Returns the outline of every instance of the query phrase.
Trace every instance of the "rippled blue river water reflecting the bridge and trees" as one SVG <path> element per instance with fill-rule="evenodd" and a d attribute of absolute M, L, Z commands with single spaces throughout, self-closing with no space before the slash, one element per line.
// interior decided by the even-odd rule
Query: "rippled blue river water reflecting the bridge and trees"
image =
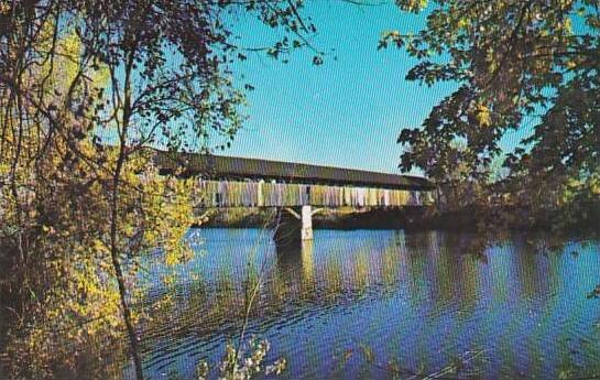
<path fill-rule="evenodd" d="M 190 234 L 205 241 L 193 261 L 174 272 L 151 261 L 140 279 L 151 379 L 193 379 L 198 360 L 219 361 L 261 268 L 249 334 L 271 343 L 271 361 L 287 359 L 281 379 L 392 378 L 363 347 L 415 371 L 483 349 L 486 379 L 600 374 L 600 302 L 586 297 L 600 280 L 598 241 L 548 251 L 512 237 L 481 250 L 468 235 L 316 230 L 277 252 L 255 229 Z"/>

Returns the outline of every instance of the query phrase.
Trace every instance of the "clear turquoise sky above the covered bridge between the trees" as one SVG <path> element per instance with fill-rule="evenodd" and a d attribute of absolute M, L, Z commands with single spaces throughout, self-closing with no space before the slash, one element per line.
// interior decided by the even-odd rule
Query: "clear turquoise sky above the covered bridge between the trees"
<path fill-rule="evenodd" d="M 304 14 L 318 30 L 313 44 L 335 51 L 320 66 L 312 64 L 307 50 L 294 52 L 287 64 L 264 53 L 238 64 L 237 75 L 255 87 L 248 95 L 249 119 L 231 149 L 217 153 L 400 173 L 400 131 L 421 126 L 456 85 L 406 82 L 416 59 L 377 46 L 383 31 L 418 31 L 424 17 L 393 4 L 330 0 L 310 2 Z M 247 45 L 273 37 L 257 22 L 246 20 L 239 28 Z"/>

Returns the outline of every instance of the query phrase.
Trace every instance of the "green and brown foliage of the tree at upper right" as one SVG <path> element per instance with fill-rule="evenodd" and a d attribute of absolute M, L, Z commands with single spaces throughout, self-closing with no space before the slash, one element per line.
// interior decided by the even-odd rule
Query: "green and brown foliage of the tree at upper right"
<path fill-rule="evenodd" d="M 401 6 L 413 9 L 410 3 Z M 393 37 L 419 58 L 407 79 L 450 80 L 460 87 L 432 111 L 421 132 L 406 132 L 400 142 L 415 146 L 427 141 L 444 149 L 465 139 L 471 160 L 487 163 L 488 155 L 498 153 L 499 139 L 539 110 L 548 112 L 536 128 L 536 142 L 555 139 L 575 123 L 583 129 L 598 124 L 597 97 L 590 91 L 598 86 L 599 29 L 591 1 L 433 3 L 425 30 L 390 32 L 384 40 Z M 574 24 L 586 26 L 574 30 Z M 575 112 L 576 120 L 560 119 L 566 112 Z M 592 150 L 593 143 L 591 138 L 586 146 Z M 567 150 L 553 153 L 565 158 Z M 591 159 L 592 152 L 582 153 Z M 422 149 L 406 153 L 403 167 L 429 170 Z"/>

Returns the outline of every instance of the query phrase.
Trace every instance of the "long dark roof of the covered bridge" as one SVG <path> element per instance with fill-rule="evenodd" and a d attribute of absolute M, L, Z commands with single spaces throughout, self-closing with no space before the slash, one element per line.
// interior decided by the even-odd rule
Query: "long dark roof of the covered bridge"
<path fill-rule="evenodd" d="M 201 175 L 207 178 L 259 178 L 402 189 L 434 188 L 430 181 L 418 176 L 212 154 L 159 152 L 155 162 L 163 172 L 178 172 L 184 176 Z"/>

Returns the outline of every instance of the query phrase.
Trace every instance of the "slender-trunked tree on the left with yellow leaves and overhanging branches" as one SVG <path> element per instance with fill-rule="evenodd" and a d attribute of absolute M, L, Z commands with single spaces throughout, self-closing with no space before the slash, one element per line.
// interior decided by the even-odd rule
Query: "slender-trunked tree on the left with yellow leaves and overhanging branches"
<path fill-rule="evenodd" d="M 152 248 L 184 259 L 192 218 L 190 189 L 160 177 L 149 148 L 228 145 L 250 88 L 233 83 L 231 64 L 247 52 L 277 58 L 307 46 L 315 26 L 299 0 L 0 6 L 0 247 L 19 273 L 21 327 L 47 318 L 85 340 L 98 334 L 95 321 L 120 321 L 119 312 L 142 379 L 128 282 Z M 283 36 L 241 46 L 241 17 Z M 47 335 L 19 333 L 52 350 Z"/>

